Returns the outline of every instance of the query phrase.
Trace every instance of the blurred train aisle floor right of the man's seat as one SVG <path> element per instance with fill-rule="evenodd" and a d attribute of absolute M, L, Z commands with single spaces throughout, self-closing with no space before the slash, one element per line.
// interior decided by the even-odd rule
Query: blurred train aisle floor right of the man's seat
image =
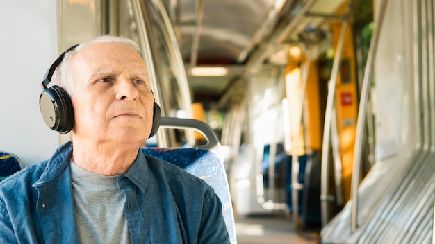
<path fill-rule="evenodd" d="M 295 230 L 292 220 L 277 216 L 236 216 L 238 244 L 317 244 Z"/>

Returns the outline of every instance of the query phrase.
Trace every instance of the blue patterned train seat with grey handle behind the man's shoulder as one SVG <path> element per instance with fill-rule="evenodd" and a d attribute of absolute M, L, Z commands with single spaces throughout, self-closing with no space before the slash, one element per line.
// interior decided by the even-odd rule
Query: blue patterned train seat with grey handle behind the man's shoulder
<path fill-rule="evenodd" d="M 199 146 L 202 148 L 142 148 L 142 153 L 177 165 L 213 187 L 222 203 L 222 214 L 227 225 L 230 241 L 231 243 L 237 243 L 233 207 L 223 157 L 218 157 L 214 153 L 216 148 L 220 147 L 215 133 L 206 123 L 193 119 L 162 117 L 161 127 L 193 128 L 202 132 L 206 137 L 208 143 L 206 146 Z"/>

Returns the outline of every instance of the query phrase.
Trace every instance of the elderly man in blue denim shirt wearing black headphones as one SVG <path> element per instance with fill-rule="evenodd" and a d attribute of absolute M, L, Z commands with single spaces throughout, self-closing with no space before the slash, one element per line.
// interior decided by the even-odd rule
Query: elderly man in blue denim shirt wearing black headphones
<path fill-rule="evenodd" d="M 43 83 L 44 121 L 72 141 L 0 183 L 0 243 L 229 243 L 213 189 L 140 152 L 160 114 L 136 44 L 75 46 Z"/>

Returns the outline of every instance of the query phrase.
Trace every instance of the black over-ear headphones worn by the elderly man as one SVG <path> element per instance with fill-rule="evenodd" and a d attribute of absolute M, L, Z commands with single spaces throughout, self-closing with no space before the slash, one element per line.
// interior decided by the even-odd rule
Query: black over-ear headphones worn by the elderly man
<path fill-rule="evenodd" d="M 69 98 L 67 91 L 65 91 L 63 87 L 59 87 L 58 85 L 48 87 L 48 85 L 54 71 L 65 57 L 65 53 L 72 51 L 76 46 L 79 45 L 74 45 L 60 54 L 59 58 L 51 64 L 50 69 L 45 73 L 44 80 L 42 80 L 41 83 L 40 110 L 42 118 L 51 130 L 56 130 L 60 134 L 67 134 L 74 127 L 74 110 L 72 108 L 71 98 Z M 154 101 L 153 125 L 149 137 L 156 134 L 160 123 L 161 109 Z"/>

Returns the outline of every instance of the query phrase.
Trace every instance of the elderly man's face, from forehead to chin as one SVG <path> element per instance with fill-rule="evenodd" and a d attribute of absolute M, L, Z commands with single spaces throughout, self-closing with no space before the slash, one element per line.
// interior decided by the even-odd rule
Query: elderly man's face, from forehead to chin
<path fill-rule="evenodd" d="M 152 126 L 154 97 L 147 67 L 129 46 L 92 44 L 74 54 L 72 139 L 144 143 Z"/>

